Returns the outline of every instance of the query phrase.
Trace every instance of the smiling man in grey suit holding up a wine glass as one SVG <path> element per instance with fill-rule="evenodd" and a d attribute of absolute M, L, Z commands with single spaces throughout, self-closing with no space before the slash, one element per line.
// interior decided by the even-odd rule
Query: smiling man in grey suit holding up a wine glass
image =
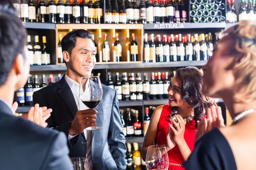
<path fill-rule="evenodd" d="M 52 108 L 48 126 L 67 135 L 70 157 L 87 157 L 93 170 L 125 170 L 125 136 L 116 91 L 102 85 L 102 100 L 95 110 L 79 100 L 80 79 L 91 75 L 96 62 L 92 35 L 82 29 L 71 31 L 61 47 L 67 73 L 59 82 L 36 91 L 33 102 Z M 79 105 L 83 110 L 78 111 Z M 102 129 L 84 130 L 96 123 Z"/>

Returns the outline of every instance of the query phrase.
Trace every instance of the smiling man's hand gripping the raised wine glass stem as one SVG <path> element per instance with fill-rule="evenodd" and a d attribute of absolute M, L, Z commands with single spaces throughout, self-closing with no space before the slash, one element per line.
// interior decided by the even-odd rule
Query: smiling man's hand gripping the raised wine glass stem
<path fill-rule="evenodd" d="M 96 114 L 98 114 L 98 111 L 93 109 L 76 112 L 76 116 L 69 129 L 69 134 L 74 136 L 83 133 L 87 127 L 96 126 Z"/>

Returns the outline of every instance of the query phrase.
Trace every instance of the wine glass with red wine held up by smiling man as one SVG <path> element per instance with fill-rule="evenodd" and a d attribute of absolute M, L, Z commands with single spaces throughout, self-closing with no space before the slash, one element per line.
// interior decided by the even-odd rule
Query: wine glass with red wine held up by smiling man
<path fill-rule="evenodd" d="M 102 99 L 102 84 L 99 76 L 81 77 L 79 99 L 90 109 L 96 108 Z M 79 110 L 84 110 L 84 105 L 79 102 Z M 102 127 L 88 127 L 86 130 L 96 130 Z"/>

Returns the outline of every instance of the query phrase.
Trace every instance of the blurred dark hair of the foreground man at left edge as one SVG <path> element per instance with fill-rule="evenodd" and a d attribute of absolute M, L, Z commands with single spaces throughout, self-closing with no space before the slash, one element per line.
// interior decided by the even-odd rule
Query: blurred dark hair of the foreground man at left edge
<path fill-rule="evenodd" d="M 0 86 L 6 82 L 17 55 L 26 57 L 24 47 L 27 42 L 26 28 L 20 18 L 6 11 L 10 6 L 5 6 L 9 4 L 0 3 Z"/>

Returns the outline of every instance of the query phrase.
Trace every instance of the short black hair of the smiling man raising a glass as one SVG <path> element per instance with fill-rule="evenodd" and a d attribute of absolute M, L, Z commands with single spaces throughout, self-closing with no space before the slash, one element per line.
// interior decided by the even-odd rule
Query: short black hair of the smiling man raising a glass
<path fill-rule="evenodd" d="M 73 48 L 76 47 L 76 38 L 77 37 L 88 38 L 88 39 L 93 40 L 92 34 L 87 30 L 77 29 L 74 31 L 70 31 L 63 37 L 63 39 L 61 41 L 62 52 L 67 51 L 71 55 Z"/>

